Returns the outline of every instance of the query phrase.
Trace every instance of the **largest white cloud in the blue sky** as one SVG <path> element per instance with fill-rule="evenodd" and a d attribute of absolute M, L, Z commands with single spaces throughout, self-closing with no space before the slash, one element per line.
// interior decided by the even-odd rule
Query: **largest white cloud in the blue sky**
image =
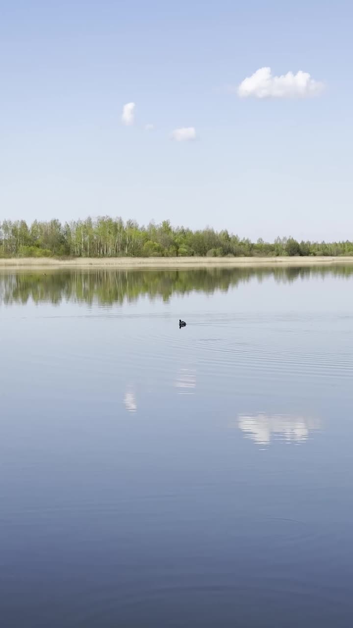
<path fill-rule="evenodd" d="M 259 68 L 251 77 L 244 78 L 237 93 L 241 98 L 305 98 L 320 94 L 323 83 L 307 72 L 287 72 L 280 77 L 271 74 L 271 68 Z"/>

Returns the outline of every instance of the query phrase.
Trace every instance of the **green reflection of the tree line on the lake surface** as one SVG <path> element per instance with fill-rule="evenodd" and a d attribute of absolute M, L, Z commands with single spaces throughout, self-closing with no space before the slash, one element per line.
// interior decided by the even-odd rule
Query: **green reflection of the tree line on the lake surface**
<path fill-rule="evenodd" d="M 26 304 L 73 301 L 93 305 L 122 304 L 135 301 L 141 296 L 168 301 L 171 295 L 186 295 L 198 291 L 212 295 L 216 291 L 226 293 L 230 288 L 249 281 L 273 278 L 278 283 L 292 283 L 312 277 L 335 276 L 352 278 L 353 265 L 303 266 L 264 268 L 202 268 L 116 270 L 75 269 L 72 271 L 0 273 L 0 303 Z"/>

